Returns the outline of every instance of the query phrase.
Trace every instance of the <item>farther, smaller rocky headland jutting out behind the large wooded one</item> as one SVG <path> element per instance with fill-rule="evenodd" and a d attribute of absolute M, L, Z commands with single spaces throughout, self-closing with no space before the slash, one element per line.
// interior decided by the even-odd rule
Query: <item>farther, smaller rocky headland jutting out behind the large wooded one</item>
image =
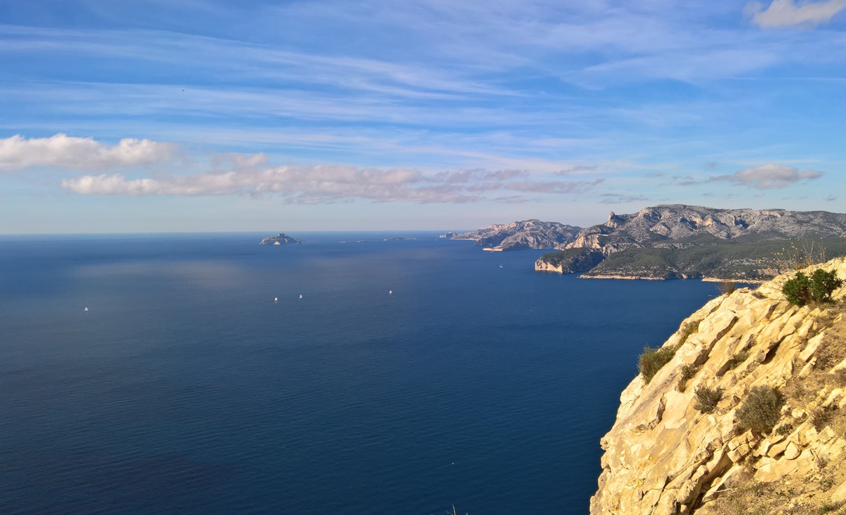
<path fill-rule="evenodd" d="M 471 239 L 486 250 L 563 249 L 580 230 L 558 222 L 525 220 L 454 234 L 452 239 Z"/>

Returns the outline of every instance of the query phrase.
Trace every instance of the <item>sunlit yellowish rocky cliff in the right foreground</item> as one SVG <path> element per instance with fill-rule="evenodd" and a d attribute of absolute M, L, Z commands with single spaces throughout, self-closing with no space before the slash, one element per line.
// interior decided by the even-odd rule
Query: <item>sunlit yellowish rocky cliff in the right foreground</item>
<path fill-rule="evenodd" d="M 844 259 L 822 267 L 846 277 Z M 797 307 L 787 279 L 711 300 L 624 390 L 592 515 L 846 512 L 846 287 Z"/>

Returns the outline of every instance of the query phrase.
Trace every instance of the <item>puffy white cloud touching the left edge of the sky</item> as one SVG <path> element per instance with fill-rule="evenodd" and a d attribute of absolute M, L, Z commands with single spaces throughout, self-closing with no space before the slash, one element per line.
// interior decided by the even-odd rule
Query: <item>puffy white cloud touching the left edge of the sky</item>
<path fill-rule="evenodd" d="M 0 171 L 28 167 L 102 170 L 166 162 L 177 146 L 151 140 L 126 138 L 117 145 L 103 145 L 93 138 L 56 134 L 49 138 L 25 138 L 16 134 L 0 140 Z"/>

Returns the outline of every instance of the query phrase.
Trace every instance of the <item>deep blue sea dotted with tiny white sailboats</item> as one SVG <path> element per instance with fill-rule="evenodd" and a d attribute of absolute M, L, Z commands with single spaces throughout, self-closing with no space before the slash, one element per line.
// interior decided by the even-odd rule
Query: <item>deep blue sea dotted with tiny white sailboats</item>
<path fill-rule="evenodd" d="M 717 294 L 263 236 L 0 237 L 0 513 L 585 515 L 637 355 Z"/>

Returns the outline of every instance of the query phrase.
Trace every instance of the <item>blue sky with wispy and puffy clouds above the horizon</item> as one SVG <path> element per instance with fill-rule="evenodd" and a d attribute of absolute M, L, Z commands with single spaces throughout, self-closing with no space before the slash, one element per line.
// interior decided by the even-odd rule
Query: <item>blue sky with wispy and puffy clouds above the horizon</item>
<path fill-rule="evenodd" d="M 846 0 L 0 0 L 0 233 L 846 211 Z"/>

